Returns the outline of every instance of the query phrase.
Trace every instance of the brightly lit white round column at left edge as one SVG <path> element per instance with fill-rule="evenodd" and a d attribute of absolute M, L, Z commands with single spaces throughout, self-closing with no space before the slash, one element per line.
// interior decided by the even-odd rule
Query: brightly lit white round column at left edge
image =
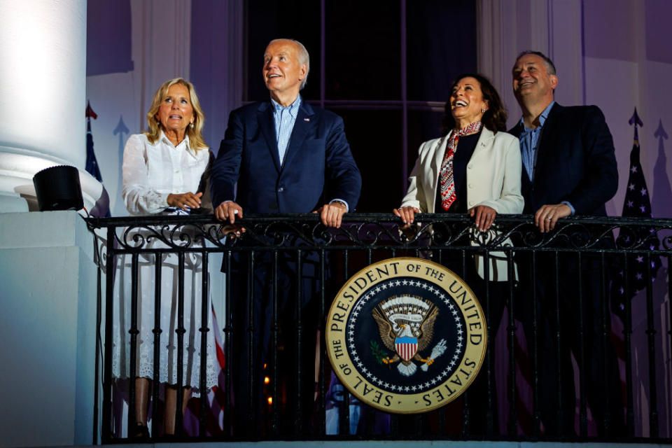
<path fill-rule="evenodd" d="M 36 209 L 33 175 L 80 171 L 85 207 L 103 196 L 86 163 L 86 1 L 0 2 L 0 213 Z"/>

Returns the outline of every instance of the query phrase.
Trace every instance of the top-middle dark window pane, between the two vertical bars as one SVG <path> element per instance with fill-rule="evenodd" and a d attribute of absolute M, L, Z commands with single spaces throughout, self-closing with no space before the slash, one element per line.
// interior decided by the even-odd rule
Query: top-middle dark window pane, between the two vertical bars
<path fill-rule="evenodd" d="M 401 99 L 399 1 L 327 0 L 328 99 Z"/>

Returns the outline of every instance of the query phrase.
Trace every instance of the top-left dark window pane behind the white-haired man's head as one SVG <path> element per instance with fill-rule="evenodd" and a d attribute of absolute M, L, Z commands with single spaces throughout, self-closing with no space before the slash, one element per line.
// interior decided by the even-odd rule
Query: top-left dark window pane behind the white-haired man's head
<path fill-rule="evenodd" d="M 320 2 L 248 1 L 247 7 L 247 99 L 265 101 L 268 97 L 261 71 L 266 45 L 274 38 L 300 41 L 310 55 L 308 82 L 301 94 L 306 99 L 320 97 Z"/>

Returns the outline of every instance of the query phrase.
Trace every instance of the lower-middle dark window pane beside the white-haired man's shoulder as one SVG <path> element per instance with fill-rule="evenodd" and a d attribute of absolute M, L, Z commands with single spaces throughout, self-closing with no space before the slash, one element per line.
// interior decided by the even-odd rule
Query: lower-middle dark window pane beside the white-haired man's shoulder
<path fill-rule="evenodd" d="M 401 111 L 334 109 L 362 174 L 357 211 L 391 213 L 402 200 Z"/>

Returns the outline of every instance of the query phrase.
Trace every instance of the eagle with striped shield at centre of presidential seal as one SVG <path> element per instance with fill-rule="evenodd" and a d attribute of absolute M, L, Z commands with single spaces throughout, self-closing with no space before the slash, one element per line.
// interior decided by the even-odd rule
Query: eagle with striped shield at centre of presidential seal
<path fill-rule="evenodd" d="M 395 354 L 382 359 L 385 364 L 398 361 L 397 370 L 409 377 L 417 370 L 413 361 L 431 365 L 433 357 L 422 358 L 421 351 L 427 348 L 434 333 L 434 323 L 439 310 L 433 304 L 416 297 L 393 297 L 375 307 L 372 316 L 378 324 L 378 332 L 384 346 Z M 423 365 L 423 370 L 426 366 Z"/>

